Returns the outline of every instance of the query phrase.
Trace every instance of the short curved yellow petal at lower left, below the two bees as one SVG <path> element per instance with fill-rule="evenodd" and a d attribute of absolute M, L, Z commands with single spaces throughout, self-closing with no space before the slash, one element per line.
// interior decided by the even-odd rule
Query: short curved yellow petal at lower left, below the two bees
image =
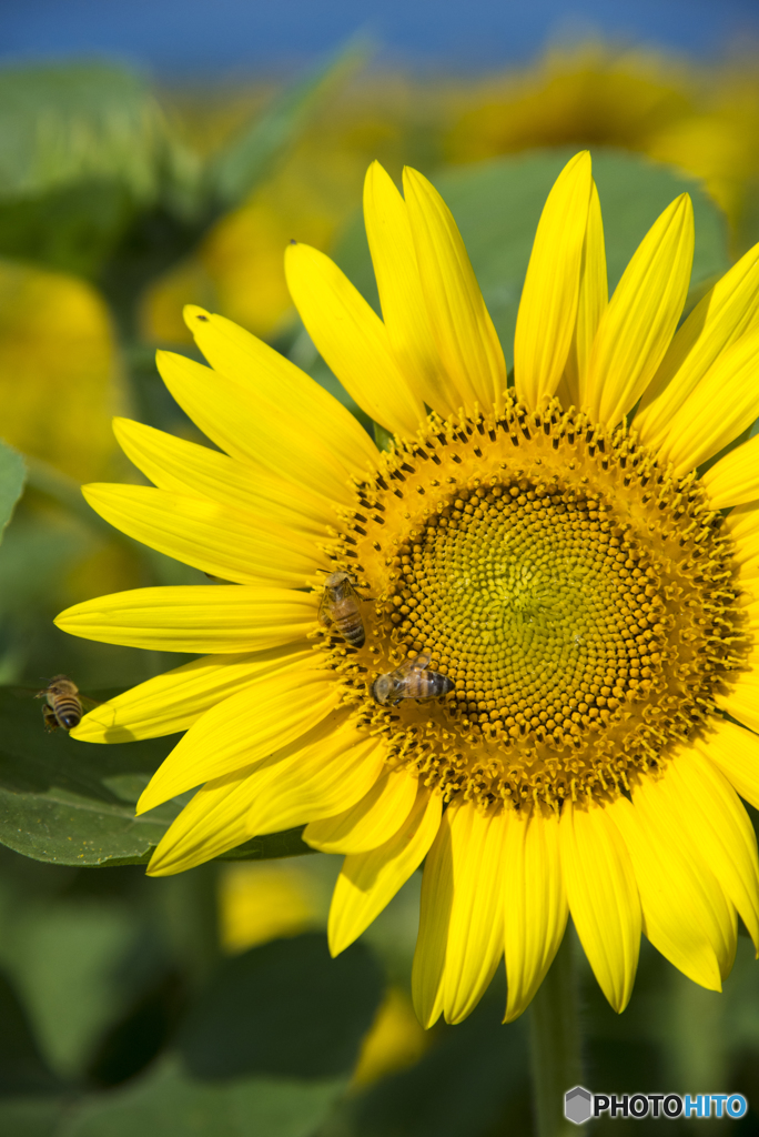
<path fill-rule="evenodd" d="M 368 853 L 398 832 L 411 812 L 416 791 L 416 778 L 404 770 L 389 770 L 350 810 L 312 821 L 303 840 L 322 853 Z"/>

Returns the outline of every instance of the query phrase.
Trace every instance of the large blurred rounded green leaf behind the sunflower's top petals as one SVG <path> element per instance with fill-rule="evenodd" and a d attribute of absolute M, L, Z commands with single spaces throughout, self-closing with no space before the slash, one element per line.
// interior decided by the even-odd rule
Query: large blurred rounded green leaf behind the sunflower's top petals
<path fill-rule="evenodd" d="M 537 222 L 553 181 L 573 152 L 574 149 L 565 148 L 540 150 L 433 176 L 461 230 L 509 367 L 517 308 Z M 658 215 L 683 191 L 693 198 L 695 214 L 693 283 L 728 267 L 724 216 L 698 181 L 634 155 L 595 149 L 592 152 L 610 289 L 616 287 Z M 335 260 L 380 310 L 360 218 L 345 233 Z"/>

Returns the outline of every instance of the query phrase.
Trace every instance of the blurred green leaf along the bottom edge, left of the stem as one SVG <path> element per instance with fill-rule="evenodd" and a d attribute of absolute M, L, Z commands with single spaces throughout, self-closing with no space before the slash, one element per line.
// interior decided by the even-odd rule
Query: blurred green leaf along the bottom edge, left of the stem
<path fill-rule="evenodd" d="M 342 1078 L 264 1077 L 209 1085 L 168 1060 L 148 1078 L 72 1111 L 56 1137 L 311 1137 L 344 1085 Z"/>

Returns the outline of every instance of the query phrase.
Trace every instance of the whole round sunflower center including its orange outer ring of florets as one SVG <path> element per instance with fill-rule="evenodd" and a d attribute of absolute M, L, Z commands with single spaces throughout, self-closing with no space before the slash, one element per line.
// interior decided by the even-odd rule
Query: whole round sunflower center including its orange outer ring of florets
<path fill-rule="evenodd" d="M 626 789 L 700 729 L 743 661 L 720 515 L 626 429 L 556 402 L 431 420 L 357 495 L 339 563 L 367 597 L 366 644 L 324 647 L 390 761 L 449 798 Z M 447 692 L 401 683 L 381 704 L 376 679 L 414 659 Z"/>

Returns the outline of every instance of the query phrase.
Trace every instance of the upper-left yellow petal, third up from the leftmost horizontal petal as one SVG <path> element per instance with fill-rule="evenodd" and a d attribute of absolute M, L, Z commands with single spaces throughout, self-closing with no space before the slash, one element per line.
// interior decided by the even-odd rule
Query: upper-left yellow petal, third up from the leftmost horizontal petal
<path fill-rule="evenodd" d="M 284 357 L 280 358 L 286 363 Z M 343 460 L 339 450 L 330 450 L 319 434 L 319 418 L 305 424 L 300 417 L 291 416 L 291 408 L 274 408 L 242 382 L 172 351 L 158 351 L 156 365 L 180 406 L 233 458 L 316 490 L 331 500 L 351 503 L 349 479 L 360 473 L 359 467 Z M 370 442 L 368 434 L 366 438 Z"/>

